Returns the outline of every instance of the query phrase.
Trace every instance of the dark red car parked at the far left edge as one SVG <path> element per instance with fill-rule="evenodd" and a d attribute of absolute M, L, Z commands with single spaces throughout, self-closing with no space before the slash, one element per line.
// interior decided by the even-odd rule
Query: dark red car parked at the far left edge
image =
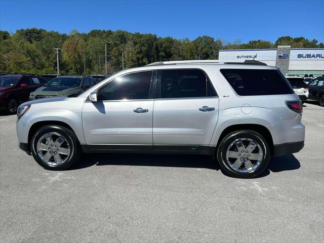
<path fill-rule="evenodd" d="M 0 76 L 0 110 L 9 114 L 17 112 L 20 103 L 28 101 L 30 92 L 47 83 L 33 74 L 5 74 Z"/>

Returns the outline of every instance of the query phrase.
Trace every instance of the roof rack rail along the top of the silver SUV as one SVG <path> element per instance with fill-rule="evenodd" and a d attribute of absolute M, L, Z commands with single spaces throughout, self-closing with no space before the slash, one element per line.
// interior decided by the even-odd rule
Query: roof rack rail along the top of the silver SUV
<path fill-rule="evenodd" d="M 171 65 L 171 64 L 245 64 L 245 65 L 263 65 L 267 66 L 264 62 L 256 60 L 245 60 L 242 61 L 231 61 L 231 60 L 186 60 L 186 61 L 167 61 L 167 62 L 153 62 L 145 66 L 156 66 L 156 65 Z"/>

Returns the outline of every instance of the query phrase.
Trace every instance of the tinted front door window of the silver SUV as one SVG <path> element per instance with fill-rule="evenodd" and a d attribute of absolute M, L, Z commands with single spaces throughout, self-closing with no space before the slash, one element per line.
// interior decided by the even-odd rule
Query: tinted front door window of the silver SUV
<path fill-rule="evenodd" d="M 117 77 L 99 90 L 99 100 L 148 99 L 152 71 Z"/>

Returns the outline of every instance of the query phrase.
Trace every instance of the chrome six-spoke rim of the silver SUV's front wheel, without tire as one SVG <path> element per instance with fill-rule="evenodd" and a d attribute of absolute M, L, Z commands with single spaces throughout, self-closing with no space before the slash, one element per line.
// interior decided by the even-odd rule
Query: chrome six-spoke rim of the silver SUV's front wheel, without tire
<path fill-rule="evenodd" d="M 38 139 L 36 149 L 39 158 L 51 167 L 62 165 L 70 155 L 70 145 L 59 133 L 44 134 Z"/>

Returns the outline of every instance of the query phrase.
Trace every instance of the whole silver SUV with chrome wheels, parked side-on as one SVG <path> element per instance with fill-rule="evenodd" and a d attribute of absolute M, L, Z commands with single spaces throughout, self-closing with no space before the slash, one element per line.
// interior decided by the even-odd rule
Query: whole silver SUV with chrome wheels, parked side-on
<path fill-rule="evenodd" d="M 216 155 L 230 176 L 251 178 L 270 156 L 303 148 L 301 113 L 276 67 L 157 62 L 120 71 L 75 97 L 23 103 L 17 135 L 19 147 L 46 169 L 67 169 L 82 152 L 198 153 Z"/>

